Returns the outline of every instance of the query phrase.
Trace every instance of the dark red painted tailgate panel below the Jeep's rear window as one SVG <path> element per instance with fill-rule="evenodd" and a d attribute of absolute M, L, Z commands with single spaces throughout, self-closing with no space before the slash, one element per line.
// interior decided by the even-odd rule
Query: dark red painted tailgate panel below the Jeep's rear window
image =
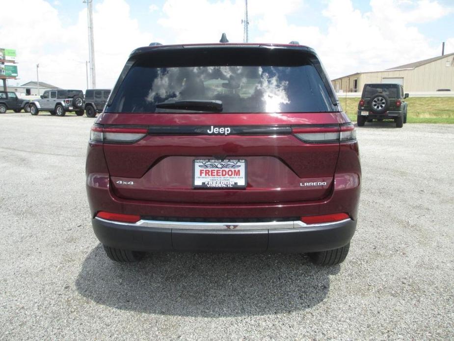
<path fill-rule="evenodd" d="M 304 142 L 292 131 L 339 131 L 345 121 L 340 113 L 129 114 L 127 120 L 121 114 L 104 114 L 100 123 L 106 123 L 105 129 L 130 129 L 125 123 L 132 116 L 142 123 L 134 127 L 147 135 L 132 144 L 104 144 L 113 192 L 125 199 L 209 203 L 325 198 L 339 142 Z M 157 121 L 159 126 L 152 125 Z M 212 126 L 228 127 L 231 133 L 204 133 Z M 246 187 L 194 188 L 195 159 L 245 160 Z"/>

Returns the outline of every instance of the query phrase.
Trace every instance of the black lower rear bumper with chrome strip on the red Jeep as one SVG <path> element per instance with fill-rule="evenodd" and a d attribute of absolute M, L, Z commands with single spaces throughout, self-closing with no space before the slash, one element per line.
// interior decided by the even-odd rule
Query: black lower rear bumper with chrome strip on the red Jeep
<path fill-rule="evenodd" d="M 140 223 L 140 222 L 139 222 Z M 104 245 L 133 251 L 216 251 L 306 253 L 340 248 L 350 241 L 356 221 L 285 228 L 264 224 L 263 229 L 187 228 L 182 223 L 126 224 L 93 219 L 93 229 Z M 288 222 L 294 223 L 294 222 Z M 224 225 L 223 225 L 224 226 Z M 295 225 L 293 225 L 295 226 Z M 174 228 L 176 227 L 176 228 Z M 212 228 L 212 227 L 208 227 Z M 224 228 L 226 228 L 224 226 Z"/>

